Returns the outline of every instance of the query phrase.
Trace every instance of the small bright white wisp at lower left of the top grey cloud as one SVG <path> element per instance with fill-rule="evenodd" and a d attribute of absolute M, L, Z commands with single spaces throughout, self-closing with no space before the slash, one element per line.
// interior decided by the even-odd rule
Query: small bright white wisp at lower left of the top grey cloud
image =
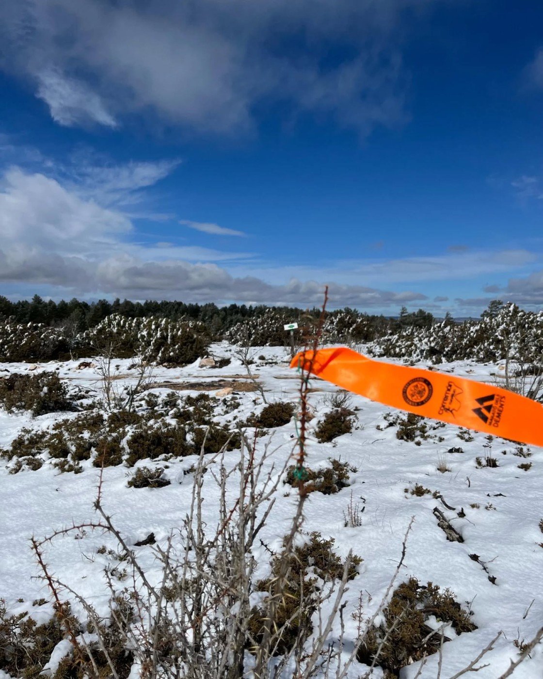
<path fill-rule="evenodd" d="M 86 84 L 62 75 L 56 69 L 37 73 L 36 96 L 49 107 L 52 119 L 59 125 L 75 127 L 88 122 L 116 128 L 117 121 L 107 111 L 102 98 Z"/>

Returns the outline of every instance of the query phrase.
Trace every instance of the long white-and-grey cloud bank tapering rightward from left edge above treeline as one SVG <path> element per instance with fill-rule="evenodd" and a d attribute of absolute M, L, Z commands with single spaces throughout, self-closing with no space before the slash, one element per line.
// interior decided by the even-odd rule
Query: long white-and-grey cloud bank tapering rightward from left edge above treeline
<path fill-rule="evenodd" d="M 155 172 L 153 176 L 159 175 Z M 134 185 L 148 183 L 142 180 Z M 130 182 L 120 184 L 128 190 Z M 113 185 L 119 183 L 113 181 Z M 324 282 L 319 280 L 291 278 L 286 284 L 271 285 L 254 273 L 235 276 L 216 263 L 239 261 L 251 253 L 168 242 L 138 244 L 130 219 L 118 208 L 101 206 L 83 195 L 83 188 L 77 184 L 67 187 L 43 173 L 29 174 L 19 168 L 5 173 L 0 182 L 0 281 L 50 285 L 69 290 L 71 295 L 310 306 L 322 301 Z M 97 195 L 108 196 L 107 187 L 100 186 Z M 412 291 L 334 281 L 329 285 L 335 306 L 379 308 L 426 299 Z"/>

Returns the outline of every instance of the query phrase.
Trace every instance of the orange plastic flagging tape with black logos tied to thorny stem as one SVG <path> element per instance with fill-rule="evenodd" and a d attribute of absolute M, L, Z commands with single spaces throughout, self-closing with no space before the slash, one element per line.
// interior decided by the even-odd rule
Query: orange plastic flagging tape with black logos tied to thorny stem
<path fill-rule="evenodd" d="M 313 355 L 312 351 L 300 352 L 291 361 L 291 368 L 309 370 Z M 498 386 L 373 361 L 346 347 L 318 350 L 311 371 L 372 401 L 543 446 L 543 405 Z"/>

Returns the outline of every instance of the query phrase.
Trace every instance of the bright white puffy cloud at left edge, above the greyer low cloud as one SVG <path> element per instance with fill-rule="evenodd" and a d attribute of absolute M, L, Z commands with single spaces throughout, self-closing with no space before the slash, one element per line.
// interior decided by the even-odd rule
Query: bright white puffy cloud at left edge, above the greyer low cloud
<path fill-rule="evenodd" d="M 60 256 L 82 256 L 92 260 L 108 257 L 112 252 L 127 252 L 138 257 L 145 251 L 147 257 L 163 261 L 179 258 L 189 261 L 220 261 L 250 257 L 251 253 L 229 253 L 199 246 L 141 246 L 128 236 L 134 236 L 132 221 L 119 208 L 107 203 L 112 195 L 130 194 L 128 177 L 136 175 L 134 191 L 149 185 L 149 175 L 157 181 L 163 172 L 145 172 L 145 181 L 137 164 L 105 172 L 96 187 L 89 184 L 62 185 L 57 179 L 41 173 L 27 174 L 20 168 L 5 172 L 0 183 L 0 247 L 4 253 L 12 250 L 18 265 L 25 253 L 55 253 Z M 134 170 L 136 170 L 134 172 Z M 117 178 L 117 172 L 121 180 Z M 94 172 L 91 173 L 94 176 Z M 111 177 L 111 185 L 107 183 Z M 124 179 L 122 179 L 124 178 Z M 100 205 L 98 199 L 105 200 Z M 25 259 L 26 261 L 26 259 Z M 9 268 L 8 268 L 9 270 Z M 0 274 L 1 275 L 1 274 Z"/>

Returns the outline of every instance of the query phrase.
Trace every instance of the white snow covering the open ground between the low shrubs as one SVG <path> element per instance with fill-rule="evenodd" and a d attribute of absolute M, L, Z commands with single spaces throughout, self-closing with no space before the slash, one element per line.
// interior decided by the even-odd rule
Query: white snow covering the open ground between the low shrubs
<path fill-rule="evenodd" d="M 219 356 L 233 356 L 233 348 L 227 344 L 212 346 L 212 353 Z M 266 397 L 273 401 L 297 401 L 298 382 L 295 371 L 288 368 L 288 356 L 282 348 L 257 348 L 252 352 L 255 364 L 251 366 L 263 383 Z M 275 365 L 264 365 L 258 361 L 261 354 L 266 359 L 277 361 Z M 399 362 L 399 361 L 398 361 Z M 81 361 L 48 363 L 35 370 L 56 370 L 61 378 L 91 390 L 100 389 L 98 375 L 93 368 L 77 369 Z M 115 361 L 118 373 L 130 374 L 129 360 Z M 12 372 L 26 372 L 34 368 L 29 364 L 2 364 Z M 419 367 L 427 367 L 425 363 Z M 455 375 L 481 380 L 493 384 L 491 373 L 498 372 L 496 365 L 481 365 L 468 362 L 443 364 L 439 367 Z M 132 371 L 133 372 L 133 371 Z M 199 368 L 198 363 L 183 369 L 155 369 L 157 381 L 185 382 L 210 380 L 238 373 L 244 368 L 239 359 L 232 358 L 230 365 L 222 369 Z M 7 374 L 7 373 L 2 373 Z M 127 378 L 130 382 L 130 379 Z M 122 380 L 119 380 L 122 384 Z M 442 589 L 449 587 L 462 606 L 470 602 L 474 611 L 472 620 L 478 629 L 454 638 L 443 648 L 443 679 L 453 676 L 489 644 L 500 631 L 504 636 L 495 643 L 494 650 L 485 656 L 482 663 L 489 663 L 474 676 L 477 679 L 497 679 L 504 672 L 510 660 L 519 657 L 514 646 L 515 639 L 531 640 L 543 625 L 543 534 L 539 524 L 543 519 L 543 449 L 532 447 L 529 458 L 514 455 L 515 445 L 502 439 L 491 443 L 491 456 L 498 459 L 496 468 L 478 468 L 476 458 L 485 458 L 483 445 L 485 435 L 472 433 L 472 441 L 458 437 L 459 429 L 447 425 L 431 430 L 434 435 L 422 445 L 396 438 L 397 428 L 387 427 L 383 416 L 391 409 L 354 395 L 352 406 L 356 411 L 356 428 L 352 433 L 335 439 L 332 443 L 318 443 L 312 432 L 330 406 L 324 403 L 326 394 L 337 389 L 331 384 L 314 380 L 316 390 L 310 394 L 310 403 L 316 418 L 310 422 L 310 441 L 307 465 L 311 469 L 325 464 L 333 458 L 340 458 L 356 467 L 350 477 L 350 488 L 333 495 L 313 493 L 305 504 L 303 529 L 319 531 L 323 537 L 333 536 L 335 549 L 346 556 L 352 549 L 364 562 L 359 574 L 350 583 L 347 594 L 348 607 L 345 620 L 356 608 L 358 594 L 364 593 L 364 614 L 371 615 L 378 606 L 396 569 L 402 551 L 402 540 L 411 517 L 415 517 L 407 542 L 407 556 L 400 572 L 400 580 L 415 576 L 421 583 L 432 581 Z M 168 388 L 157 389 L 166 393 Z M 190 393 L 179 392 L 180 395 Z M 211 395 L 214 391 L 210 392 Z M 244 419 L 250 412 L 258 411 L 255 405 L 257 392 L 240 392 L 242 406 L 236 411 Z M 398 411 L 395 411 L 396 413 Z M 7 414 L 0 409 L 0 447 L 8 447 L 23 427 L 45 428 L 57 420 L 73 417 L 75 414 L 52 414 L 32 418 L 29 414 Z M 226 416 L 217 418 L 224 422 Z M 428 424 L 432 424 L 428 421 Z M 381 429 L 377 429 L 377 425 Z M 543 422 L 542 422 L 543 425 Z M 272 430 L 274 454 L 270 458 L 276 466 L 282 466 L 293 452 L 295 443 L 295 422 Z M 443 437 L 443 441 L 438 441 Z M 258 439 L 263 449 L 268 437 Z M 447 452 L 460 447 L 464 452 Z M 239 451 L 228 454 L 235 460 Z M 48 591 L 39 574 L 29 538 L 41 538 L 64 526 L 89 521 L 94 517 L 92 507 L 96 496 L 98 469 L 92 460 L 82 462 L 83 473 L 58 473 L 50 464 L 44 464 L 38 471 L 23 469 L 19 473 L 8 473 L 7 460 L 0 460 L 0 598 L 5 598 L 12 613 L 32 610 L 39 619 L 39 609 L 31 602 L 48 597 Z M 171 485 L 160 489 L 134 489 L 126 485 L 126 466 L 108 467 L 104 471 L 102 502 L 113 518 L 115 526 L 125 536 L 129 545 L 142 540 L 150 532 L 160 542 L 165 540 L 172 528 L 179 526 L 189 509 L 191 475 L 184 475 L 194 458 L 179 458 L 168 461 L 165 475 Z M 438 465 L 443 462 L 450 471 L 441 473 Z M 531 463 L 527 471 L 519 469 L 521 463 Z M 138 462 L 143 466 L 149 462 Z M 151 466 L 157 466 L 151 463 Z M 161 466 L 164 466 L 162 464 Z M 432 492 L 439 491 L 443 500 L 453 507 L 447 509 L 439 498 L 431 494 L 416 496 L 409 491 L 420 484 Z M 406 492 L 406 489 L 409 489 Z M 210 482 L 205 488 L 205 520 L 217 522 L 217 489 Z M 360 505 L 362 526 L 345 527 L 344 513 L 352 498 Z M 289 493 L 290 492 L 290 493 Z M 290 528 L 290 520 L 296 501 L 296 491 L 280 484 L 274 510 L 260 537 L 271 548 L 279 548 L 282 536 Z M 472 506 L 473 505 L 473 506 Z M 462 534 L 464 543 L 449 542 L 445 532 L 437 525 L 432 513 L 434 507 L 443 511 L 454 528 Z M 465 514 L 462 517 L 458 513 Z M 60 579 L 69 582 L 84 598 L 96 608 L 107 613 L 108 593 L 103 579 L 103 568 L 109 557 L 97 553 L 100 545 L 109 546 L 107 538 L 96 532 L 77 536 L 58 537 L 45 547 L 45 559 Z M 157 568 L 152 549 L 139 548 L 142 563 L 149 572 Z M 479 555 L 479 562 L 470 555 Z M 259 576 L 269 572 L 269 555 L 263 547 L 255 548 L 259 561 Z M 487 572 L 483 569 L 484 564 Z M 495 578 L 495 583 L 489 581 Z M 369 597 L 371 595 L 371 598 Z M 19 598 L 23 602 L 18 602 Z M 532 603 L 533 602 L 533 603 Z M 526 614 L 526 611 L 529 611 Z M 81 613 L 77 604 L 74 612 Z M 43 607 L 43 617 L 50 614 L 48 606 Z M 348 623 L 349 624 L 349 623 Z M 450 636 L 454 636 L 451 633 Z M 480 663 L 481 664 L 481 663 Z M 353 677 L 364 674 L 363 665 L 356 664 Z M 436 677 L 437 657 L 431 657 L 424 667 L 422 679 Z M 419 663 L 402 670 L 402 679 L 413 679 Z M 1 672 L 0 672 L 1 674 Z M 375 671 L 376 678 L 381 676 Z M 543 648 L 536 647 L 513 674 L 516 679 L 541 679 L 543 677 Z"/>

